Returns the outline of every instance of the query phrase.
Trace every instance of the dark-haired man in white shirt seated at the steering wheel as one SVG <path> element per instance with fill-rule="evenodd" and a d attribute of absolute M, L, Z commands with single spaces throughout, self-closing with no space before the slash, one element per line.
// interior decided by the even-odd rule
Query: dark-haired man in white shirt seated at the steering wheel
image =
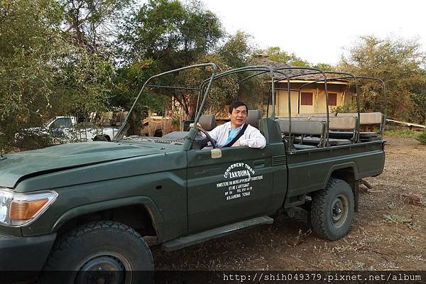
<path fill-rule="evenodd" d="M 218 148 L 231 146 L 249 146 L 265 148 L 266 139 L 256 127 L 246 124 L 249 107 L 244 102 L 234 102 L 229 106 L 231 121 L 216 126 L 209 135 L 216 141 Z"/>

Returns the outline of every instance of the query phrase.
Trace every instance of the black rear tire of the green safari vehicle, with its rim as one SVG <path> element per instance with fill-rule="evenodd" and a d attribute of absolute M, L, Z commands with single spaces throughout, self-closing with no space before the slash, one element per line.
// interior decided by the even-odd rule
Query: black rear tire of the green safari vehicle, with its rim
<path fill-rule="evenodd" d="M 336 241 L 345 236 L 354 217 L 354 193 L 344 180 L 332 178 L 324 190 L 315 192 L 309 222 L 318 236 Z"/>

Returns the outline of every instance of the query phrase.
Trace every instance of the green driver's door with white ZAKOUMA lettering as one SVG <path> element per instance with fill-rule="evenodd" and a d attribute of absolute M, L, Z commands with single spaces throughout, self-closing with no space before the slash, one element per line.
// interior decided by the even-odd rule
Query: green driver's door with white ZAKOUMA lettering
<path fill-rule="evenodd" d="M 220 158 L 217 153 L 220 151 Z M 187 152 L 190 233 L 261 216 L 273 188 L 271 150 L 246 146 Z"/>

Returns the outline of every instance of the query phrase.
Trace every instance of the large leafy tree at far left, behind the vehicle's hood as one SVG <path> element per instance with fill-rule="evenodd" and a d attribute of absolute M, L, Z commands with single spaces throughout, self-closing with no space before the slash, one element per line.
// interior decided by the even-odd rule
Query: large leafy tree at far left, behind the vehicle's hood
<path fill-rule="evenodd" d="M 55 0 L 1 0 L 0 149 L 55 115 L 106 109 L 113 60 L 72 44 Z"/>

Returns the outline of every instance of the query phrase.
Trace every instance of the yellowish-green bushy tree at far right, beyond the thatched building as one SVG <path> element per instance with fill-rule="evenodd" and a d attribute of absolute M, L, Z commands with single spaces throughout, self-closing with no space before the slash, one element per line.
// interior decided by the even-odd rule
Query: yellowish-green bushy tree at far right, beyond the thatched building
<path fill-rule="evenodd" d="M 358 44 L 350 48 L 349 55 L 343 56 L 339 69 L 355 75 L 378 77 L 386 83 L 388 116 L 408 121 L 424 121 L 420 115 L 419 90 L 425 89 L 425 53 L 417 40 L 374 36 L 360 38 Z M 364 110 L 381 110 L 381 86 L 366 82 L 362 87 Z"/>

